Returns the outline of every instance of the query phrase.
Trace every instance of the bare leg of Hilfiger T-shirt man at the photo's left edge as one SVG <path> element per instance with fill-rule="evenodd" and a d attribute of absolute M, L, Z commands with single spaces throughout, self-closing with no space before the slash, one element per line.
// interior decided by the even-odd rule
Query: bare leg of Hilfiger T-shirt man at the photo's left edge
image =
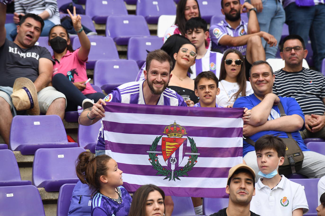
<path fill-rule="evenodd" d="M 12 121 L 10 105 L 3 97 L 0 97 L 0 106 L 0 135 L 2 136 L 5 143 L 9 145 L 10 127 Z"/>

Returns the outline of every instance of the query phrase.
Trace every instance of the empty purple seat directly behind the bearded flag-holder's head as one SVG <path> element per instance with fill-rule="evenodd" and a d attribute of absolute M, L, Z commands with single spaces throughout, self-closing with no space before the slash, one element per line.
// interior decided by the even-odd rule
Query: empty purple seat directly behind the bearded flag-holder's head
<path fill-rule="evenodd" d="M 127 59 L 136 61 L 141 67 L 146 61 L 147 51 L 160 49 L 162 44 L 162 39 L 158 37 L 132 37 L 127 46 Z"/>

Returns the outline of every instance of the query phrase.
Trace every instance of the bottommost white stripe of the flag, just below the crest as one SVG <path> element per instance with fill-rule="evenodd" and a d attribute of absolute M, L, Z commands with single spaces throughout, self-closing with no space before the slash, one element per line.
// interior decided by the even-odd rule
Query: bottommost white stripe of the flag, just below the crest
<path fill-rule="evenodd" d="M 164 176 L 139 176 L 133 174 L 122 174 L 123 182 L 132 182 L 136 185 L 146 185 L 146 184 L 155 184 L 159 182 L 160 187 L 176 187 L 178 188 L 180 184 L 185 188 L 225 188 L 227 185 L 227 178 L 200 178 L 200 177 L 180 177 L 180 180 L 177 181 L 168 181 L 162 179 Z"/>

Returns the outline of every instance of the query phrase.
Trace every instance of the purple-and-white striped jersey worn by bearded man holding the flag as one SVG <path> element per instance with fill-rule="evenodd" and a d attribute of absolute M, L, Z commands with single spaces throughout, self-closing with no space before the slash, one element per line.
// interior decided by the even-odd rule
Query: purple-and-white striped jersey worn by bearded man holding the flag
<path fill-rule="evenodd" d="M 143 96 L 143 83 L 146 80 L 139 82 L 129 82 L 114 88 L 110 94 L 104 97 L 104 101 L 117 102 L 125 104 L 146 104 Z M 178 95 L 174 90 L 166 88 L 160 95 L 157 105 L 164 106 L 183 106 L 186 107 L 183 97 Z M 105 139 L 103 134 L 103 124 L 99 129 L 98 141 L 96 150 L 105 150 Z"/>

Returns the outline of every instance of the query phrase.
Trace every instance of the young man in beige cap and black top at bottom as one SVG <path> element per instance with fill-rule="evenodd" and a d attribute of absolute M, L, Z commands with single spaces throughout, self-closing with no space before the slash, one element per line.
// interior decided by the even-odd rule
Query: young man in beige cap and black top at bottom
<path fill-rule="evenodd" d="M 210 216 L 259 216 L 249 210 L 255 195 L 255 172 L 251 167 L 238 164 L 229 170 L 226 193 L 228 207 Z"/>

